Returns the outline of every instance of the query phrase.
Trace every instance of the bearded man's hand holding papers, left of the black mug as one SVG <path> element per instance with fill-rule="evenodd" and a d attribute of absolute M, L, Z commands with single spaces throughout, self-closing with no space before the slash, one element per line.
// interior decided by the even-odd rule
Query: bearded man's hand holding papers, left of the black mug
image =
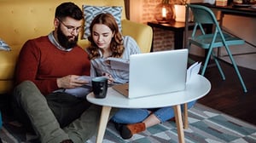
<path fill-rule="evenodd" d="M 68 75 L 66 77 L 57 78 L 57 86 L 63 89 L 73 89 L 80 87 L 89 81 L 78 79 L 80 76 Z"/>

